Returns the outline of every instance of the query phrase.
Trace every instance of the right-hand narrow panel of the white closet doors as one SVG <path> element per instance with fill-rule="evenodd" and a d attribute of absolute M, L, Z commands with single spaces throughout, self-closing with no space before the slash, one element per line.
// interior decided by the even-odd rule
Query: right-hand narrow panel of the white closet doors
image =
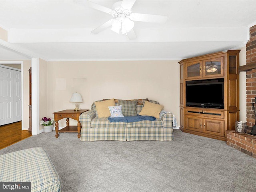
<path fill-rule="evenodd" d="M 13 122 L 21 121 L 21 72 L 13 71 Z"/>

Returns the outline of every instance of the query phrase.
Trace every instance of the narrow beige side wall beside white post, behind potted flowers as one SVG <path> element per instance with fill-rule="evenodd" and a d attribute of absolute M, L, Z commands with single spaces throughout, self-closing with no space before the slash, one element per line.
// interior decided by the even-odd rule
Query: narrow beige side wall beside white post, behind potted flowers
<path fill-rule="evenodd" d="M 49 82 L 50 83 L 50 82 Z M 47 62 L 45 60 L 39 59 L 39 120 L 43 117 L 50 118 L 47 114 Z M 40 125 L 39 130 L 42 130 L 44 127 Z"/>

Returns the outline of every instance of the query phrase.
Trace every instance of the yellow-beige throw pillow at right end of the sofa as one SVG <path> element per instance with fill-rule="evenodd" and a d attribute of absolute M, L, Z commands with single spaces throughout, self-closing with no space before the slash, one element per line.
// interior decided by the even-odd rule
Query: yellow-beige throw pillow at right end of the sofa
<path fill-rule="evenodd" d="M 139 115 L 154 116 L 155 118 L 159 119 L 159 114 L 163 108 L 163 105 L 145 101 L 144 107 L 142 108 Z"/>

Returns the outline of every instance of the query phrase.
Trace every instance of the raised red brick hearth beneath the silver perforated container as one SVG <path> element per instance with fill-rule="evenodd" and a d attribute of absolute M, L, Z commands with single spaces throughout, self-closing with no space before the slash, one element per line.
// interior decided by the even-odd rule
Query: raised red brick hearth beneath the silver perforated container
<path fill-rule="evenodd" d="M 227 145 L 256 158 L 256 136 L 227 130 Z"/>

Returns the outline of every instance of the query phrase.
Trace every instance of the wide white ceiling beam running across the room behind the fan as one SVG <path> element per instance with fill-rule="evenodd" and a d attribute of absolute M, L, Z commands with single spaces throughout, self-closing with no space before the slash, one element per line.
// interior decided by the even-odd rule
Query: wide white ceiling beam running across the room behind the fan
<path fill-rule="evenodd" d="M 220 28 L 135 28 L 137 38 L 129 40 L 125 35 L 104 30 L 92 34 L 93 29 L 13 29 L 8 33 L 11 43 L 49 42 L 217 42 L 246 41 L 247 27 Z"/>

